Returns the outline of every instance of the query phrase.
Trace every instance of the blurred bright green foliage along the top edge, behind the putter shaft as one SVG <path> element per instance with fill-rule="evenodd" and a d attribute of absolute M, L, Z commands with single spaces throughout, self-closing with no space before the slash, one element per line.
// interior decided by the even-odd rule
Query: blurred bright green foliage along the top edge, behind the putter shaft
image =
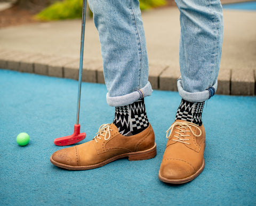
<path fill-rule="evenodd" d="M 140 9 L 148 10 L 165 4 L 165 0 L 140 0 Z M 82 0 L 56 2 L 39 12 L 35 18 L 43 21 L 81 18 L 82 6 Z"/>

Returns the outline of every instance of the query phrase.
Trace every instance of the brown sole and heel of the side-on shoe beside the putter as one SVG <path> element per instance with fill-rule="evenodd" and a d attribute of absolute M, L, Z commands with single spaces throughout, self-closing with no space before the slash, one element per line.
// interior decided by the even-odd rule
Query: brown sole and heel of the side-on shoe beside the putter
<path fill-rule="evenodd" d="M 131 152 L 131 153 L 120 154 L 120 155 L 117 155 L 117 156 L 113 156 L 113 158 L 107 159 L 103 162 L 100 162 L 98 164 L 93 164 L 93 165 L 90 165 L 90 166 L 69 166 L 67 164 L 62 164 L 62 163 L 54 161 L 52 159 L 52 156 L 50 158 L 50 161 L 55 166 L 65 168 L 65 169 L 68 169 L 68 170 L 88 170 L 88 169 L 94 169 L 94 168 L 105 166 L 109 162 L 113 162 L 117 159 L 121 159 L 121 158 L 125 158 L 125 157 L 128 157 L 128 160 L 130 160 L 130 161 L 138 161 L 138 160 L 152 159 L 155 156 L 156 156 L 156 143 L 149 150 L 145 150 L 145 151 L 141 151 L 141 152 Z"/>

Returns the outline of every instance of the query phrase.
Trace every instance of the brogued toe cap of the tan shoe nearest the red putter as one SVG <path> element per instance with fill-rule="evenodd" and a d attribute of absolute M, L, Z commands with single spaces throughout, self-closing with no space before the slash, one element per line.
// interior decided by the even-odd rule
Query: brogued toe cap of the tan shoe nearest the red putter
<path fill-rule="evenodd" d="M 68 166 L 77 166 L 78 160 L 74 147 L 65 148 L 56 151 L 51 156 L 52 163 L 60 163 Z"/>

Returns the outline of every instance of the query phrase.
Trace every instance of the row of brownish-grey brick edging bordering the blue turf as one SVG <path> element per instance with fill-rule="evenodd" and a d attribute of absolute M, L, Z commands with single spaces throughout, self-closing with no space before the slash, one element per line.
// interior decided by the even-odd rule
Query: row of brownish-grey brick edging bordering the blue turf
<path fill-rule="evenodd" d="M 79 58 L 1 50 L 0 68 L 78 80 Z M 217 94 L 253 96 L 255 75 L 255 69 L 220 70 Z M 149 81 L 153 89 L 177 91 L 179 77 L 179 68 L 149 64 Z M 84 59 L 83 81 L 105 84 L 101 60 Z"/>

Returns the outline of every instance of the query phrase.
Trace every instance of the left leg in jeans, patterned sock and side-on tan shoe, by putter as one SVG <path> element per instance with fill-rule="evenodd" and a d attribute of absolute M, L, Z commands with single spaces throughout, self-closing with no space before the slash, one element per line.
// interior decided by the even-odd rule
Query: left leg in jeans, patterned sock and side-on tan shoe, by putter
<path fill-rule="evenodd" d="M 146 40 L 138 0 L 89 0 L 99 31 L 107 103 L 115 106 L 111 124 L 102 125 L 92 141 L 52 154 L 62 168 L 101 167 L 124 156 L 144 160 L 156 155 L 155 135 L 143 98 L 151 95 Z"/>

